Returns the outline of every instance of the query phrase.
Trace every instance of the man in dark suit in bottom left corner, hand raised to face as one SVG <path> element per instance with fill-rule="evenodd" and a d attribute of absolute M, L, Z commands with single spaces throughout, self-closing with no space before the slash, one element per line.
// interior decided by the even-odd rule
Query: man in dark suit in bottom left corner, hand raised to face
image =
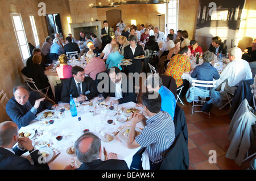
<path fill-rule="evenodd" d="M 13 146 L 18 142 L 18 145 Z M 29 151 L 34 165 L 20 157 Z M 28 137 L 19 138 L 18 126 L 13 121 L 0 124 L 0 170 L 49 170 L 45 159 L 35 150 Z"/>

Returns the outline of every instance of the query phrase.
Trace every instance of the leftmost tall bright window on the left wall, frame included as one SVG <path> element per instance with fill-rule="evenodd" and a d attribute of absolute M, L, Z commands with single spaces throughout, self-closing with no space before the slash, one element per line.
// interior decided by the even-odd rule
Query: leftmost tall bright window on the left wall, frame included
<path fill-rule="evenodd" d="M 11 20 L 13 22 L 13 27 L 16 35 L 16 40 L 19 45 L 20 55 L 22 61 L 25 62 L 28 57 L 30 57 L 30 50 L 27 44 L 27 37 L 24 31 L 22 18 L 20 14 L 13 13 L 11 14 Z"/>

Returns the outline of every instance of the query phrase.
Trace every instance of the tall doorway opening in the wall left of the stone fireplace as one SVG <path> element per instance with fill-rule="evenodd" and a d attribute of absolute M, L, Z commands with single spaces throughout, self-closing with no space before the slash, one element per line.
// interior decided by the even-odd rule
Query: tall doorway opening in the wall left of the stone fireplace
<path fill-rule="evenodd" d="M 46 24 L 48 35 L 55 39 L 54 34 L 59 33 L 59 35 L 63 35 L 63 30 L 60 22 L 60 14 L 47 14 L 46 16 Z"/>

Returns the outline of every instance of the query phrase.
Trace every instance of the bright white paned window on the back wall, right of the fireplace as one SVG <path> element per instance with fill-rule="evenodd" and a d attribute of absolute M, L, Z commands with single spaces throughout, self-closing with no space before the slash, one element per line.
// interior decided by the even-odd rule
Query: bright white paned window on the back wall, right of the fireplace
<path fill-rule="evenodd" d="M 177 24 L 177 14 L 178 14 L 178 0 L 170 0 L 169 3 L 167 3 L 166 6 L 166 17 L 167 17 L 167 32 L 169 33 L 170 29 L 174 29 L 175 32 L 178 30 L 178 24 Z"/>

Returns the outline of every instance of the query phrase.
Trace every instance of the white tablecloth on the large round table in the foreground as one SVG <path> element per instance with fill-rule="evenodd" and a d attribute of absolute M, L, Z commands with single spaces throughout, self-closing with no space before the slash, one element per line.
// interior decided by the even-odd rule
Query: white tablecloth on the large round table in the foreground
<path fill-rule="evenodd" d="M 116 99 L 116 98 L 111 98 L 111 97 L 106 98 L 105 104 L 109 105 L 110 101 L 113 99 Z M 88 104 L 88 103 L 89 102 L 86 102 L 86 104 Z M 69 107 L 68 104 L 66 106 Z M 122 108 L 135 107 L 135 103 L 129 102 L 129 103 L 124 103 L 124 104 L 119 104 L 119 107 L 120 108 L 121 107 Z M 96 108 L 95 116 L 92 116 L 89 112 L 89 111 L 94 110 L 94 106 L 89 107 L 89 105 L 86 105 L 86 106 L 81 105 L 77 110 L 78 110 L 77 111 L 78 115 L 76 117 L 72 117 L 71 112 L 69 110 L 65 111 L 65 118 L 59 119 L 59 120 L 55 119 L 55 123 L 53 123 L 52 125 L 47 125 L 46 129 L 44 131 L 44 135 L 40 136 L 38 138 L 40 140 L 44 140 L 44 139 L 45 140 L 47 140 L 47 139 L 54 140 L 55 144 L 53 144 L 53 148 L 57 148 L 61 152 L 59 157 L 57 157 L 52 163 L 49 164 L 50 169 L 60 170 L 60 169 L 64 169 L 65 166 L 71 164 L 72 156 L 68 155 L 66 153 L 66 150 L 69 148 L 69 146 L 72 146 L 75 143 L 75 141 L 77 140 L 77 138 L 79 136 L 82 135 L 82 131 L 84 129 L 89 129 L 90 132 L 94 132 L 97 134 L 100 132 L 100 130 L 102 128 L 106 128 L 108 126 L 111 127 L 114 131 L 116 131 L 121 126 L 130 125 L 130 120 L 128 120 L 124 123 L 118 123 L 116 121 L 117 123 L 115 125 L 113 125 L 113 124 L 109 125 L 108 123 L 106 123 L 106 120 L 104 120 L 105 116 L 108 115 L 110 117 L 110 119 L 114 120 L 115 116 L 113 117 L 113 115 L 117 111 L 115 111 L 115 110 L 110 111 L 105 106 L 102 106 L 102 108 Z M 38 114 L 37 119 L 40 119 L 40 117 L 41 117 L 40 115 L 42 116 L 42 113 Z M 116 115 L 116 116 L 118 116 L 118 115 Z M 77 127 L 77 123 L 79 122 L 78 121 L 79 117 L 81 117 L 80 123 L 82 124 L 82 126 L 80 126 L 80 128 Z M 38 121 L 34 120 L 29 125 L 27 125 L 27 127 L 20 128 L 19 132 L 26 132 L 26 130 L 28 130 L 28 129 L 38 128 L 38 127 L 39 127 Z M 143 128 L 141 123 L 138 123 L 137 127 Z M 57 132 L 56 136 L 59 136 L 60 134 L 63 135 L 64 136 L 63 140 L 57 141 L 56 136 L 51 136 L 52 131 Z M 74 133 L 73 136 L 68 136 L 72 132 Z M 36 140 L 38 140 L 38 139 L 36 139 Z M 33 138 L 32 138 L 32 140 L 33 140 Z M 36 140 L 34 140 L 34 141 L 36 141 Z M 130 165 L 131 165 L 131 162 L 133 159 L 133 155 L 135 153 L 137 153 L 137 151 L 140 148 L 128 149 L 126 142 L 120 142 L 119 140 L 120 139 L 117 134 L 117 136 L 115 136 L 115 138 L 112 142 L 101 141 L 102 149 L 105 146 L 107 153 L 110 153 L 110 152 L 117 153 L 118 159 L 125 160 L 127 163 L 127 166 L 130 168 Z M 55 154 L 56 153 L 54 152 L 54 155 Z M 24 157 L 26 157 L 27 155 L 28 155 L 28 152 L 23 154 Z M 103 151 L 102 151 L 101 159 L 104 160 Z M 77 163 L 77 161 L 75 161 L 75 162 Z M 75 166 L 76 166 L 76 164 L 75 164 Z"/>

